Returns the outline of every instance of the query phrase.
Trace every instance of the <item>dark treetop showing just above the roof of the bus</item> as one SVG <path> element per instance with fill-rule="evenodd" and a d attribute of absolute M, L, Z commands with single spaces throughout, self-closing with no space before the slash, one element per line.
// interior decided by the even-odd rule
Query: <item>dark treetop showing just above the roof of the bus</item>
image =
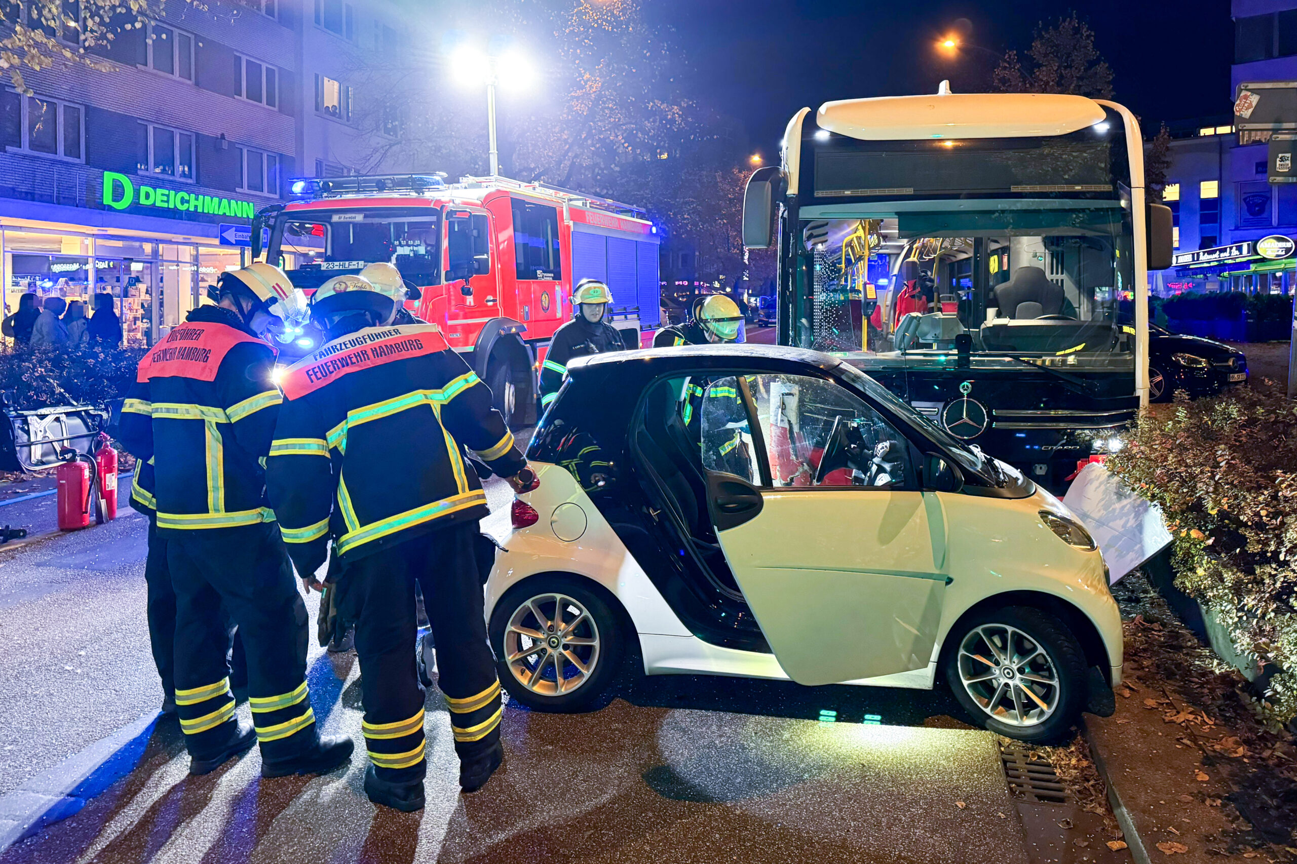
<path fill-rule="evenodd" d="M 1075 13 L 1049 29 L 1036 26 L 1023 61 L 1009 51 L 991 74 L 991 90 L 1005 93 L 1073 93 L 1113 97 L 1113 70 L 1095 48 L 1095 32 Z"/>

